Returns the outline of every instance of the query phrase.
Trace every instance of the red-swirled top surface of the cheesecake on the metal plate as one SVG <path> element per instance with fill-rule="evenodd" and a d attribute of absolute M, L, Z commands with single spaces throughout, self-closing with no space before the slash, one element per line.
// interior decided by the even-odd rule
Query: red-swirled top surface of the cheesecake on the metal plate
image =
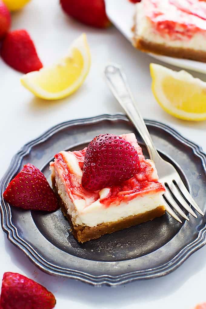
<path fill-rule="evenodd" d="M 120 184 L 114 180 L 108 187 L 102 187 L 99 190 L 88 191 L 82 186 L 82 163 L 84 162 L 87 148 L 80 151 L 61 151 L 55 155 L 55 161 L 50 163 L 51 169 L 57 169 L 59 176 L 64 180 L 67 193 L 73 200 L 84 199 L 85 206 L 92 202 L 100 200 L 100 203 L 109 207 L 111 203 L 120 204 L 122 200 L 131 201 L 137 195 L 143 196 L 149 191 L 164 190 L 161 183 L 158 182 L 158 174 L 154 163 L 145 159 L 141 147 L 137 144 L 134 134 L 122 135 L 125 141 L 129 141 L 137 151 L 140 167 L 137 173 L 128 180 Z M 107 195 L 101 198 L 102 189 L 107 188 Z"/>

